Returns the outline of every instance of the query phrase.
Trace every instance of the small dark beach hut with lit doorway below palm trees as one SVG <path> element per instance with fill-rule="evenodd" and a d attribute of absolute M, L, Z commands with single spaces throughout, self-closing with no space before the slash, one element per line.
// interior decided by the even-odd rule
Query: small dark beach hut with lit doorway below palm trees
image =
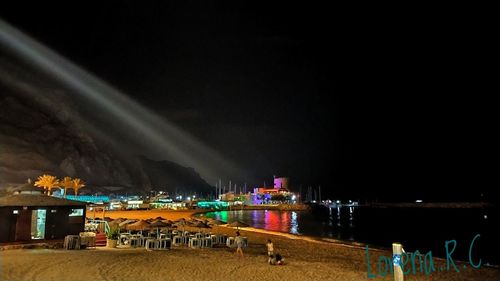
<path fill-rule="evenodd" d="M 64 239 L 84 231 L 85 202 L 41 193 L 0 197 L 0 243 Z"/>

